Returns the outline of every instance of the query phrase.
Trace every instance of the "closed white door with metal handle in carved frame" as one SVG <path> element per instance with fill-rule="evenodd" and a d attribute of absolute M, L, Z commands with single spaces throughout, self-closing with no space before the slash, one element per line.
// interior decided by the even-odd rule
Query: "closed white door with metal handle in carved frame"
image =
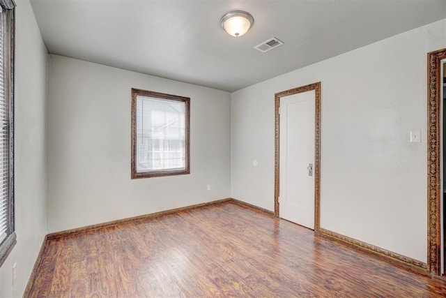
<path fill-rule="evenodd" d="M 279 126 L 279 214 L 312 230 L 314 98 L 314 90 L 280 98 Z"/>

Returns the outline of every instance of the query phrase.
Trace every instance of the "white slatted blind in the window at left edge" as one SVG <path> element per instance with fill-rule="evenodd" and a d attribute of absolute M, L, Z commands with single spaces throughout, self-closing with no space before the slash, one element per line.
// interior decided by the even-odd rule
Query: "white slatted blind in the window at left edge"
<path fill-rule="evenodd" d="M 1 9 L 1 8 L 0 8 Z M 0 243 L 8 232 L 8 192 L 9 192 L 9 108 L 5 88 L 5 13 L 0 11 Z"/>

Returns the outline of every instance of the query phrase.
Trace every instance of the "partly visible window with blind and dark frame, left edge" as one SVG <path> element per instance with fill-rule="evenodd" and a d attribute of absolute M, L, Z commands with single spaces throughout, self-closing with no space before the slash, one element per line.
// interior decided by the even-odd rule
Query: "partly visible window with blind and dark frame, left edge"
<path fill-rule="evenodd" d="M 0 266 L 15 245 L 14 3 L 0 0 Z"/>

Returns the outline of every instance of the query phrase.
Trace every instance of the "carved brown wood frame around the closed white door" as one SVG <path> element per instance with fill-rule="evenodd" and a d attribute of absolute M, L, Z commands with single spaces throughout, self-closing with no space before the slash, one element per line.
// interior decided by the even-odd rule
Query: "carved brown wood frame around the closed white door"
<path fill-rule="evenodd" d="M 302 92 L 315 92 L 314 98 L 314 232 L 321 224 L 321 82 L 289 89 L 275 94 L 275 171 L 274 171 L 274 215 L 279 217 L 279 144 L 280 144 L 280 98 Z"/>

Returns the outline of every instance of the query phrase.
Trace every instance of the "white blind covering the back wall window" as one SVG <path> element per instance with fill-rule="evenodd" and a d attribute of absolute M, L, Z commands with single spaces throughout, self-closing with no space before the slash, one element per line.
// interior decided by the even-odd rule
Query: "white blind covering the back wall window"
<path fill-rule="evenodd" d="M 137 172 L 184 170 L 185 103 L 137 96 Z"/>

